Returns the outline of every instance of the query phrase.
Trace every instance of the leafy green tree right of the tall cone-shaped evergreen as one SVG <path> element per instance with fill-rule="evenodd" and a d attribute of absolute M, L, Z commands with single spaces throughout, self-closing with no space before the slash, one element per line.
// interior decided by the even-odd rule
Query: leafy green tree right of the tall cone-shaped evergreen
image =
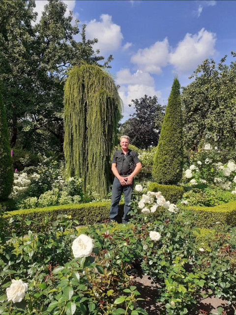
<path fill-rule="evenodd" d="M 226 65 L 226 57 L 217 65 L 206 59 L 190 76 L 195 80 L 182 90 L 186 149 L 210 143 L 213 148 L 235 150 L 236 62 Z"/>

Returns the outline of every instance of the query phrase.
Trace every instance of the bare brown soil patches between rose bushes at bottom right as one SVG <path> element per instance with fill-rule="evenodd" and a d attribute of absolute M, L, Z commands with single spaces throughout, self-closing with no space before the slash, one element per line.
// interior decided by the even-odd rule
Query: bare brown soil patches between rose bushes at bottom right
<path fill-rule="evenodd" d="M 134 285 L 137 286 L 137 290 L 141 293 L 141 297 L 145 299 L 145 301 L 139 301 L 139 306 L 142 307 L 148 315 L 160 315 L 161 311 L 165 310 L 165 307 L 160 303 L 156 302 L 156 289 L 153 284 L 151 284 L 151 280 L 148 279 L 148 276 L 139 275 L 134 279 Z M 204 310 L 208 314 L 212 312 L 216 312 L 217 308 L 222 307 L 223 311 L 226 312 L 226 315 L 234 315 L 235 310 L 234 307 L 231 307 L 227 304 L 227 301 L 223 299 L 212 297 L 207 297 L 205 299 L 200 300 L 197 305 L 197 309 Z M 199 315 L 198 311 L 191 311 L 188 315 Z M 163 314 L 163 313 L 162 313 Z"/>

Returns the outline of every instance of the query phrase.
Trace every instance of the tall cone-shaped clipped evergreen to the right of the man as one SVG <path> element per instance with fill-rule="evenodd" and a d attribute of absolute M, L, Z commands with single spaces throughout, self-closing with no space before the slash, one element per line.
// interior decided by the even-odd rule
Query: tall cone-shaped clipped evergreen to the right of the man
<path fill-rule="evenodd" d="M 154 156 L 152 177 L 160 184 L 177 184 L 182 176 L 183 126 L 180 84 L 175 77 Z"/>

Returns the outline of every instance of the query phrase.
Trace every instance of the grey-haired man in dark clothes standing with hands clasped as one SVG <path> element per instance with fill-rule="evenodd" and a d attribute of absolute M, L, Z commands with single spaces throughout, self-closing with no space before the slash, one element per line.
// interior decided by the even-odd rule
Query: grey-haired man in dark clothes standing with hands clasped
<path fill-rule="evenodd" d="M 110 221 L 117 221 L 118 205 L 122 192 L 124 193 L 124 215 L 122 223 L 126 224 L 129 220 L 128 212 L 130 211 L 129 203 L 132 199 L 132 192 L 134 189 L 134 176 L 141 170 L 142 165 L 137 157 L 137 153 L 129 150 L 129 137 L 120 137 L 121 150 L 114 153 L 112 159 L 112 171 L 115 175 L 112 200 L 110 208 Z M 132 164 L 135 163 L 136 167 L 132 172 Z"/>

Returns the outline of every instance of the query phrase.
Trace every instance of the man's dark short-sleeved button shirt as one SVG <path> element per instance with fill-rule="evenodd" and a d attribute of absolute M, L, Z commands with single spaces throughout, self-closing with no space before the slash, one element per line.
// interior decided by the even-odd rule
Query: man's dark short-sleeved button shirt
<path fill-rule="evenodd" d="M 117 170 L 119 175 L 131 174 L 131 168 L 129 163 L 132 164 L 132 162 L 134 162 L 135 164 L 137 164 L 140 162 L 139 158 L 137 157 L 137 153 L 130 149 L 128 149 L 128 152 L 126 153 L 126 158 L 124 157 L 122 150 L 116 151 L 113 155 L 112 163 L 117 164 Z"/>

